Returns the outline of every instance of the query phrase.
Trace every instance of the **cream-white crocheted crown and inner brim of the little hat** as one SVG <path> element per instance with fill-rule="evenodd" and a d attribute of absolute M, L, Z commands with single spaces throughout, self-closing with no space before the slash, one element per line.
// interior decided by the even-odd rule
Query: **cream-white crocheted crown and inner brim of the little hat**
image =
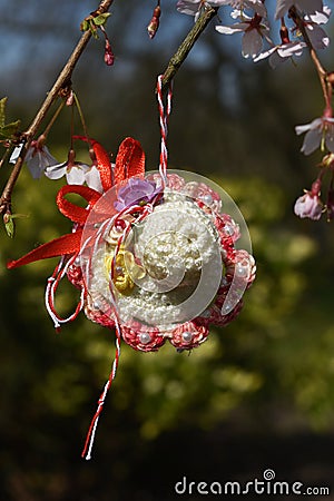
<path fill-rule="evenodd" d="M 104 240 L 94 254 L 89 293 L 100 304 L 115 301 L 124 324 L 139 321 L 168 331 L 198 316 L 216 296 L 223 273 L 218 234 L 212 217 L 179 193 L 166 191 L 164 203 L 125 239 L 125 269 L 117 271 L 132 282 L 125 293 L 106 271 L 114 248 Z M 139 275 L 137 265 L 144 269 Z"/>

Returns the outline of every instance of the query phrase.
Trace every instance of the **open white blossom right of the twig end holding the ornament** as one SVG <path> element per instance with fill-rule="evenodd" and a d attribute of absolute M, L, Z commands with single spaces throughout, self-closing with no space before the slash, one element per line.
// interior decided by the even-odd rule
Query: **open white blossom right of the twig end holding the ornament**
<path fill-rule="evenodd" d="M 244 32 L 242 53 L 244 58 L 248 58 L 249 56 L 255 58 L 263 48 L 263 37 L 267 38 L 265 32 L 268 31 L 269 28 L 257 13 L 250 18 L 240 11 L 232 12 L 233 18 L 236 18 L 237 16 L 242 16 L 242 22 L 236 22 L 233 26 L 216 26 L 216 30 L 224 35 Z"/>

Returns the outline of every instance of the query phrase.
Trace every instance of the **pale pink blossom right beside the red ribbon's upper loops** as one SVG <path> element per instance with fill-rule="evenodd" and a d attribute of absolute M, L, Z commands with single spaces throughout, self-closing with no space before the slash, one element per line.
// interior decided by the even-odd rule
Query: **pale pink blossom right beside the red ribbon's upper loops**
<path fill-rule="evenodd" d="M 49 179 L 60 179 L 66 176 L 66 180 L 69 185 L 84 185 L 85 183 L 89 188 L 102 191 L 100 175 L 95 165 L 88 166 L 80 161 L 75 160 L 75 151 L 69 150 L 68 160 L 62 164 L 51 165 L 45 170 L 46 176 Z"/>

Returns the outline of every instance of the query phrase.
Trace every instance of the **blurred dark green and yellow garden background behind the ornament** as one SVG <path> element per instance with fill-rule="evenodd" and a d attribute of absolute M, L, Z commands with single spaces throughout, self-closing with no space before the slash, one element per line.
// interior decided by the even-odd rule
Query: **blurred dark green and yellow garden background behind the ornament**
<path fill-rule="evenodd" d="M 0 0 L 0 90 L 10 119 L 29 125 L 96 7 Z M 91 40 L 72 78 L 89 134 L 114 154 L 124 137 L 140 140 L 148 169 L 159 155 L 156 76 L 193 26 L 165 1 L 151 41 L 154 7 L 116 0 L 107 24 L 115 67 L 104 65 L 102 39 Z M 214 24 L 175 80 L 169 163 L 212 177 L 239 205 L 258 269 L 245 307 L 190 356 L 169 345 L 154 354 L 124 345 L 85 462 L 114 333 L 81 314 L 55 334 L 43 288 L 57 259 L 7 271 L 9 259 L 70 229 L 53 203 L 62 181 L 33 181 L 24 170 L 13 206 L 29 217 L 18 220 L 13 240 L 0 229 L 1 500 L 167 501 L 178 498 L 174 485 L 184 475 L 247 482 L 267 468 L 276 480 L 327 485 L 334 499 L 333 228 L 293 214 L 321 159 L 301 155 L 294 126 L 322 114 L 320 85 L 307 55 L 273 71 L 243 60 L 239 38 L 223 38 Z M 330 65 L 331 53 L 323 56 Z M 66 109 L 49 136 L 59 160 L 69 124 Z M 2 185 L 8 173 L 0 171 Z M 61 306 L 70 311 L 76 298 L 61 288 Z"/>

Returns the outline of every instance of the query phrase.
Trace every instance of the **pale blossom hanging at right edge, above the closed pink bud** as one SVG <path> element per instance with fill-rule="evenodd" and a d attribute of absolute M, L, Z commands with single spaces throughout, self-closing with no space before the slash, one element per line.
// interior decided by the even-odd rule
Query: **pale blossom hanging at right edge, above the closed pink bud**
<path fill-rule="evenodd" d="M 311 124 L 296 126 L 296 134 L 304 134 L 304 143 L 301 151 L 304 155 L 312 154 L 316 148 L 326 146 L 326 148 L 334 153 L 334 118 L 326 117 L 315 118 Z"/>

